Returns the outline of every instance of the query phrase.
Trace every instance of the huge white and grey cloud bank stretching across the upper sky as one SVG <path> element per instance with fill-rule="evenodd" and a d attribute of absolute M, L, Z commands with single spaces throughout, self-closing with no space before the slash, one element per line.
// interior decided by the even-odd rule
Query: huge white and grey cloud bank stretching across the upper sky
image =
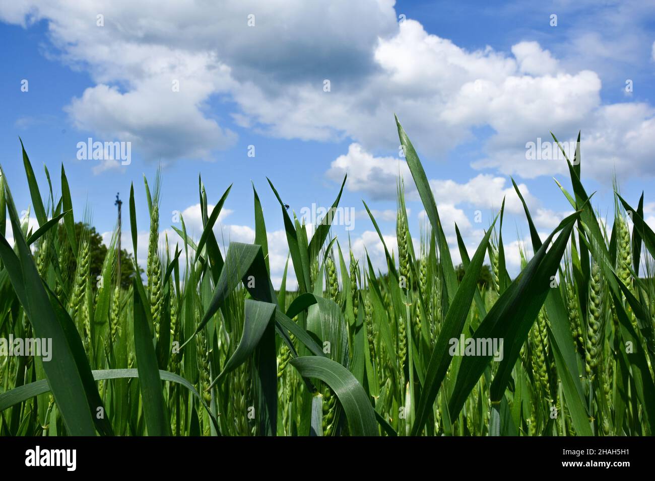
<path fill-rule="evenodd" d="M 284 139 L 352 139 L 367 151 L 396 151 L 396 112 L 417 149 L 434 157 L 474 137 L 477 127 L 491 127 L 474 164 L 480 169 L 561 172 L 561 162 L 526 162 L 525 143 L 548 130 L 566 138 L 582 128 L 585 143 L 603 146 L 590 175 L 607 176 L 614 163 L 629 175 L 655 173 L 643 154 L 655 137 L 648 105 L 603 105 L 595 71 L 561 62 L 534 41 L 511 52 L 467 50 L 415 20 L 399 24 L 392 0 L 337 0 L 329 9 L 301 0 L 156 8 L 147 1 L 26 1 L 3 3 L 0 18 L 26 27 L 46 20 L 55 49 L 48 54 L 96 82 L 68 105 L 73 124 L 132 141 L 144 156 L 212 158 L 236 142 L 225 118 Z M 580 41 L 594 43 L 588 32 Z M 209 109 L 214 99 L 231 102 Z M 629 114 L 627 124 L 620 120 Z M 614 153 L 625 141 L 636 168 Z M 386 164 L 371 166 L 371 181 L 382 183 L 398 167 Z"/>

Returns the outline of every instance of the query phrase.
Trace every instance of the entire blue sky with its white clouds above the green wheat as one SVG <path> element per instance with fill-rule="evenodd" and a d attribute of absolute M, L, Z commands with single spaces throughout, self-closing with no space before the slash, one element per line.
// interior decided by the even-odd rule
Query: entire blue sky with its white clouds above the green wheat
<path fill-rule="evenodd" d="M 198 174 L 210 203 L 234 185 L 217 228 L 225 241 L 253 241 L 252 181 L 274 280 L 286 240 L 266 177 L 300 213 L 329 206 L 347 172 L 341 205 L 354 209 L 354 225 L 333 233 L 342 245 L 349 234 L 356 253 L 366 246 L 382 267 L 362 199 L 393 247 L 400 171 L 418 237 L 422 205 L 393 113 L 421 156 L 451 241 L 457 222 L 474 249 L 506 196 L 510 268 L 527 234 L 510 175 L 540 232 L 571 211 L 552 180 L 569 184 L 565 162 L 526 158 L 526 144 L 549 141 L 550 130 L 562 141 L 582 130 L 583 180 L 602 213 L 611 215 L 616 171 L 629 201 L 645 190 L 655 224 L 655 5 L 534 4 L 0 0 L 0 162 L 19 209 L 30 200 L 18 136 L 42 188 L 41 166 L 58 190 L 63 164 L 75 212 L 90 205 L 101 233 L 114 226 L 116 192 L 127 200 L 134 183 L 142 236 L 143 174 L 153 179 L 161 163 L 161 229 L 172 242 L 174 211 L 199 235 Z M 88 137 L 130 142 L 131 163 L 78 160 L 77 143 Z"/>

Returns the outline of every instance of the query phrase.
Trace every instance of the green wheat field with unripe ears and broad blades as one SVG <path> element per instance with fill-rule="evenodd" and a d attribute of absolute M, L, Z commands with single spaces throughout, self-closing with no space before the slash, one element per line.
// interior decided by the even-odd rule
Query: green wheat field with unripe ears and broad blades
<path fill-rule="evenodd" d="M 356 258 L 329 221 L 309 236 L 269 181 L 289 249 L 279 289 L 254 187 L 254 243 L 221 250 L 213 229 L 230 188 L 210 211 L 201 183 L 202 235 L 181 219 L 177 247 L 162 249 L 160 179 L 145 182 L 147 205 L 135 205 L 132 186 L 125 209 L 134 252 L 136 209 L 149 211 L 147 264 L 122 266 L 142 276 L 121 282 L 117 226 L 92 278 L 88 216 L 73 213 L 63 166 L 62 196 L 47 170 L 44 196 L 23 150 L 39 228 L 20 219 L 9 182 L 19 179 L 2 172 L 0 338 L 51 349 L 0 350 L 0 435 L 652 435 L 655 234 L 643 195 L 633 209 L 615 186 L 605 228 L 580 181 L 578 137 L 566 160 L 572 190 L 555 192 L 574 213 L 548 238 L 514 184 L 531 234 L 521 272 L 506 269 L 503 209 L 475 252 L 456 230 L 458 268 L 400 122 L 398 134 L 412 179 L 399 181 L 397 253 L 366 206 L 386 272 Z M 426 211 L 418 234 L 402 182 L 415 183 Z M 480 280 L 485 260 L 490 281 Z"/>

